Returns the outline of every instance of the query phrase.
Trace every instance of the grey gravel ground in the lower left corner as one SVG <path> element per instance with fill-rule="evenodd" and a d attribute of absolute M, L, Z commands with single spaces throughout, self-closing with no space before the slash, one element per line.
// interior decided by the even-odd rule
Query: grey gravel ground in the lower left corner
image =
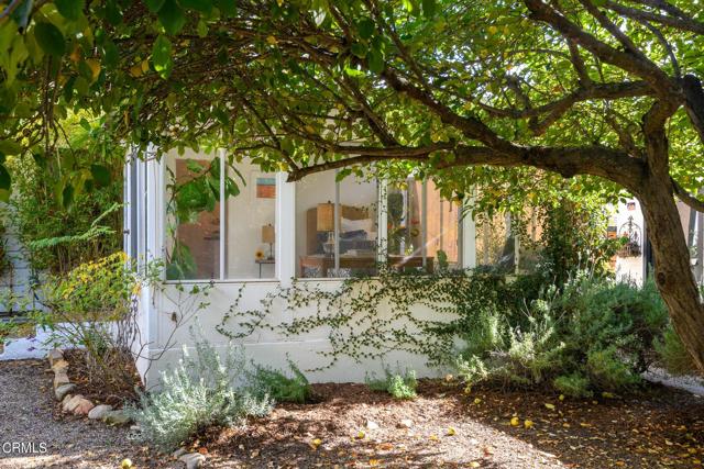
<path fill-rule="evenodd" d="M 61 416 L 47 369 L 45 360 L 0 361 L 0 468 L 113 469 L 124 457 L 143 462 L 140 467 L 155 464 L 144 464 L 154 460 L 129 439 L 125 428 Z M 7 451 L 8 443 L 33 448 L 24 448 L 29 454 Z"/>

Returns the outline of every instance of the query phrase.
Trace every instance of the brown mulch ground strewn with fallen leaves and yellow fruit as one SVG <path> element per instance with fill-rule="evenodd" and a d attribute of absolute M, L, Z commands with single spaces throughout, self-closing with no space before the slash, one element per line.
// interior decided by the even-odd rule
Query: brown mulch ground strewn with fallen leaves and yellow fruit
<path fill-rule="evenodd" d="M 659 386 L 623 399 L 561 400 L 422 380 L 418 399 L 403 402 L 363 384 L 314 389 L 321 402 L 282 404 L 246 428 L 204 435 L 194 449 L 218 468 L 697 468 L 704 460 L 704 400 Z M 413 426 L 399 428 L 402 420 Z"/>

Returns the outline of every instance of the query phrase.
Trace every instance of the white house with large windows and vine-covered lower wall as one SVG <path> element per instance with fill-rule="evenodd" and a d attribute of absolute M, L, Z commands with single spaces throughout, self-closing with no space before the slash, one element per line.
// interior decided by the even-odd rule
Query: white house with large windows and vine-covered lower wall
<path fill-rule="evenodd" d="M 242 309 L 257 309 L 294 279 L 336 289 L 344 277 L 373 275 L 385 256 L 399 269 L 430 271 L 446 261 L 475 265 L 473 221 L 461 217 L 460 208 L 440 198 L 432 182 L 409 180 L 397 188 L 352 176 L 336 181 L 334 170 L 287 182 L 284 172 L 264 174 L 248 163 L 230 165 L 223 156 L 170 152 L 158 159 L 133 157 L 127 166 L 125 250 L 142 261 L 165 261 L 161 287 L 141 293 L 146 348 L 138 368 L 147 386 L 190 340 L 186 325 L 175 327 L 197 310 L 183 288 L 212 284 L 207 308 L 196 315 L 208 339 L 224 345 L 228 338 L 216 326 L 240 294 Z M 224 193 L 229 197 L 220 197 Z M 275 302 L 267 321 L 314 313 Z M 414 314 L 422 319 L 430 311 L 419 306 Z M 228 327 L 237 332 L 238 326 Z M 258 364 L 280 368 L 288 357 L 306 370 L 328 362 L 319 354 L 330 348 L 328 334 L 316 330 L 285 337 L 257 331 L 241 342 Z M 158 360 L 150 366 L 147 356 Z M 384 364 L 343 358 L 307 375 L 314 382 L 363 381 L 367 372 L 397 365 L 420 376 L 438 372 L 426 366 L 424 356 L 394 351 Z"/>

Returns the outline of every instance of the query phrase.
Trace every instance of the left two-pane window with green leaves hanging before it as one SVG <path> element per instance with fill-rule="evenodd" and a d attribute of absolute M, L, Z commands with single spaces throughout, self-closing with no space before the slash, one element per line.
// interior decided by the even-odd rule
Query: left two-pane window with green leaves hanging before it
<path fill-rule="evenodd" d="M 166 178 L 168 280 L 275 276 L 275 175 L 187 152 L 167 155 Z"/>

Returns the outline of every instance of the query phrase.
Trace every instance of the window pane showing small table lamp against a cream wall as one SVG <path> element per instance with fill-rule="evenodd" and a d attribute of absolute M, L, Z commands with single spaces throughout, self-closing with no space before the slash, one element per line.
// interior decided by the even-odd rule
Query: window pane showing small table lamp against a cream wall
<path fill-rule="evenodd" d="M 276 175 L 248 163 L 226 174 L 226 278 L 274 278 Z"/>

